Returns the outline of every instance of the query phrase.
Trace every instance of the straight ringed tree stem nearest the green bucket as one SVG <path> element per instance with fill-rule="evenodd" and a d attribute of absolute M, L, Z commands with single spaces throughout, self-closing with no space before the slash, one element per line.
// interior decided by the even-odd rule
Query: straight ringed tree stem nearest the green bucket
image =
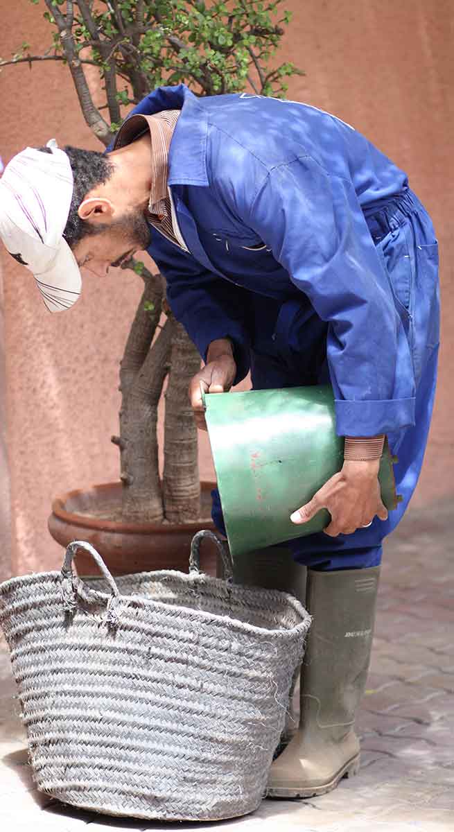
<path fill-rule="evenodd" d="M 190 379 L 199 369 L 199 353 L 182 325 L 175 322 L 165 393 L 164 513 L 170 522 L 200 517 L 197 428 L 188 396 Z"/>

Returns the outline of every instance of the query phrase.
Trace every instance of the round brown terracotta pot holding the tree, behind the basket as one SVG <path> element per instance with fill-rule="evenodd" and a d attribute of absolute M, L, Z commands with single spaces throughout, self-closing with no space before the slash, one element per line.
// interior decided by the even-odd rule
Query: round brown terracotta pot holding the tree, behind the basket
<path fill-rule="evenodd" d="M 52 503 L 49 532 L 62 546 L 85 540 L 101 554 L 112 575 L 178 569 L 187 572 L 190 541 L 201 528 L 214 529 L 210 518 L 210 491 L 215 483 L 201 483 L 202 518 L 186 523 L 121 522 L 109 519 L 121 508 L 121 483 L 94 485 L 87 491 L 70 491 Z M 215 547 L 205 542 L 200 567 L 216 574 Z M 99 574 L 90 556 L 82 550 L 76 556 L 79 575 Z"/>

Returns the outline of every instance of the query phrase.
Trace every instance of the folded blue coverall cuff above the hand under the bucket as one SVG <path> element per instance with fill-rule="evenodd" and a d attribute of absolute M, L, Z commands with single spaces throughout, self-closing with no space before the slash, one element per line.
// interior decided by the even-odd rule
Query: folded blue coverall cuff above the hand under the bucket
<path fill-rule="evenodd" d="M 376 436 L 415 423 L 416 399 L 334 402 L 338 436 Z"/>

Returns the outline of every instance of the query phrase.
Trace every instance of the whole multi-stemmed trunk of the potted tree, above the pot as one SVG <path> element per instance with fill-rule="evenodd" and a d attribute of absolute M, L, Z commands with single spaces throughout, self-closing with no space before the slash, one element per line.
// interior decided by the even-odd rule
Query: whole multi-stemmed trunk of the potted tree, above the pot
<path fill-rule="evenodd" d="M 188 385 L 200 369 L 200 356 L 165 303 L 161 276 L 145 269 L 143 275 L 145 288 L 121 359 L 120 437 L 112 437 L 121 451 L 122 518 L 196 520 L 200 517 L 197 430 Z M 152 343 L 163 309 L 168 318 Z M 156 427 L 167 374 L 163 494 Z"/>

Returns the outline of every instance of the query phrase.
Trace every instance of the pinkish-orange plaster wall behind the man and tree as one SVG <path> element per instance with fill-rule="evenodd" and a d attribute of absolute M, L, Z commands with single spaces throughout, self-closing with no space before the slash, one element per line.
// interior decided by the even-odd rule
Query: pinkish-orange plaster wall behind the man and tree
<path fill-rule="evenodd" d="M 444 301 L 442 371 L 427 461 L 416 504 L 452 493 L 451 216 L 453 77 L 451 0 L 288 0 L 294 11 L 282 59 L 307 76 L 289 97 L 335 112 L 363 131 L 411 176 L 432 212 L 441 244 Z M 36 52 L 49 28 L 28 0 L 2 10 L 0 54 L 23 40 Z M 450 34 L 451 32 L 451 34 Z M 36 64 L 0 75 L 0 153 L 51 136 L 96 147 L 79 113 L 67 69 Z M 448 92 L 449 91 L 449 92 Z M 450 138 L 451 137 L 451 138 Z M 47 533 L 53 496 L 117 477 L 117 364 L 141 291 L 126 272 L 86 279 L 70 313 L 51 315 L 32 276 L 7 255 L 4 275 L 7 438 L 11 475 L 12 569 L 56 567 L 61 550 Z M 1 355 L 1 354 L 0 354 Z M 1 389 L 0 389 L 1 392 Z M 212 472 L 206 437 L 200 472 Z M 1 476 L 1 474 L 0 474 Z M 5 475 L 3 481 L 6 483 Z M 1 556 L 0 556 L 1 557 Z"/>

